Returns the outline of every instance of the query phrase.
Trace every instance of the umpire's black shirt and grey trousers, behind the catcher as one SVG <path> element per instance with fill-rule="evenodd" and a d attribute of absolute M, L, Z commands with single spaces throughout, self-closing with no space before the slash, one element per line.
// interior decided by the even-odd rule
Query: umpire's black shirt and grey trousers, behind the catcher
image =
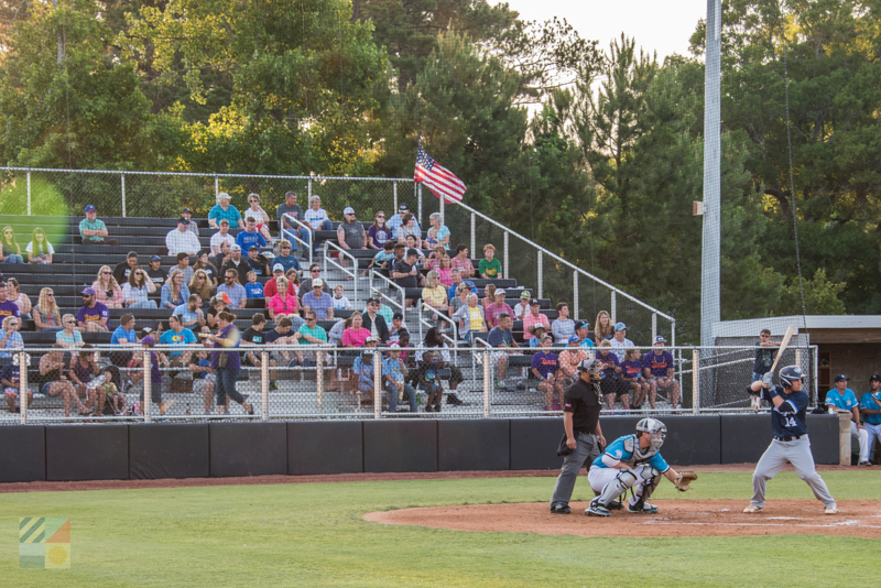
<path fill-rule="evenodd" d="M 568 505 L 578 470 L 586 461 L 590 467 L 589 462 L 599 457 L 599 442 L 596 435 L 599 411 L 602 409 L 599 400 L 599 384 L 585 382 L 581 372 L 564 393 L 563 411 L 572 413 L 573 434 L 577 445 L 563 460 L 563 471 L 559 472 L 554 496 L 551 498 L 552 510 L 558 505 Z"/>

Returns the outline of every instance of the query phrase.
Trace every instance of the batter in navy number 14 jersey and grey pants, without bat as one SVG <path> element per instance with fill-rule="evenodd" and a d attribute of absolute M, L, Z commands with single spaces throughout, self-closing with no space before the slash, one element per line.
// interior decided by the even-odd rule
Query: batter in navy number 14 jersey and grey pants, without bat
<path fill-rule="evenodd" d="M 752 500 L 743 512 L 757 513 L 764 509 L 764 491 L 768 480 L 783 469 L 786 461 L 795 467 L 795 472 L 807 482 L 817 500 L 823 502 L 826 514 L 835 514 L 838 507 L 814 467 L 811 455 L 811 440 L 805 425 L 807 394 L 802 392 L 803 373 L 798 366 L 786 366 L 780 370 L 780 383 L 773 384 L 773 373 L 768 372 L 762 380 L 752 382 L 748 391 L 774 405 L 771 411 L 771 429 L 774 438 L 768 446 L 755 471 L 752 473 Z"/>

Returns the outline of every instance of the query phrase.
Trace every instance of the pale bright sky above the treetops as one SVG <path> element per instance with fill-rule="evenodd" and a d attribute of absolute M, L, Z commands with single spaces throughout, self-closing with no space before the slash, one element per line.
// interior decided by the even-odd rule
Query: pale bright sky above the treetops
<path fill-rule="evenodd" d="M 637 47 L 657 52 L 657 61 L 688 53 L 688 39 L 697 21 L 706 17 L 706 0 L 507 0 L 520 18 L 543 22 L 566 19 L 583 39 L 607 48 L 624 32 Z M 491 4 L 500 2 L 489 0 Z"/>

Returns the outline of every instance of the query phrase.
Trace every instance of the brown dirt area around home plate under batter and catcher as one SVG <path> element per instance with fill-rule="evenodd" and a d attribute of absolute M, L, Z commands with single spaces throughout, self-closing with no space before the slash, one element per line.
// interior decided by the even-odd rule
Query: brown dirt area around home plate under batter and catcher
<path fill-rule="evenodd" d="M 365 520 L 456 531 L 502 531 L 548 535 L 682 537 L 744 535 L 842 535 L 881 537 L 877 501 L 838 503 L 838 514 L 827 515 L 813 500 L 772 501 L 759 514 L 744 514 L 748 501 L 659 500 L 657 514 L 613 511 L 608 519 L 585 516 L 587 502 L 573 502 L 572 514 L 551 514 L 541 504 L 478 504 L 371 512 Z"/>

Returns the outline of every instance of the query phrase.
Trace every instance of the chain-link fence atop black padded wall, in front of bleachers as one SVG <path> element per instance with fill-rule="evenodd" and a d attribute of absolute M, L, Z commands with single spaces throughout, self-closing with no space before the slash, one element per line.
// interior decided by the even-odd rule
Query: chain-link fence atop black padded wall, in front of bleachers
<path fill-rule="evenodd" d="M 607 364 L 600 380 L 602 414 L 751 411 L 746 388 L 754 348 L 665 348 L 673 358 L 670 381 L 661 373 L 667 369 L 663 364 L 634 380 L 640 369 L 651 370 L 655 349 L 607 351 L 621 355 L 620 369 L 597 348 L 553 347 L 535 355 L 529 344 L 509 350 L 416 346 L 400 351 L 307 345 L 29 346 L 0 358 L 6 401 L 0 424 L 558 415 L 563 391 L 577 378 L 578 361 L 588 357 Z M 556 362 L 550 369 L 547 359 Z M 815 360 L 816 347 L 790 348 L 781 360 L 781 366 L 802 366 L 812 406 Z M 30 404 L 22 403 L 22 390 Z"/>

